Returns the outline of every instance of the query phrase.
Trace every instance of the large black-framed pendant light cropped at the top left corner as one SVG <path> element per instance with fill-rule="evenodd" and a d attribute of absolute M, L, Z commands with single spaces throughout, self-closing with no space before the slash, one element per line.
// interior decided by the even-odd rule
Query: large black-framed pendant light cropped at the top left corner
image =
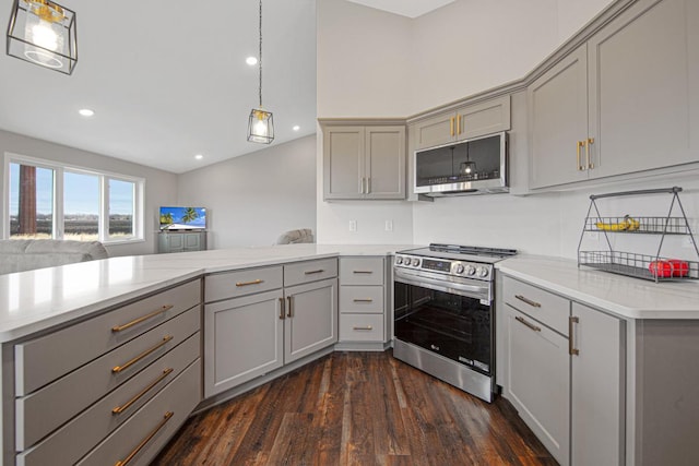
<path fill-rule="evenodd" d="M 75 12 L 49 0 L 14 0 L 7 52 L 71 74 L 78 63 Z"/>

